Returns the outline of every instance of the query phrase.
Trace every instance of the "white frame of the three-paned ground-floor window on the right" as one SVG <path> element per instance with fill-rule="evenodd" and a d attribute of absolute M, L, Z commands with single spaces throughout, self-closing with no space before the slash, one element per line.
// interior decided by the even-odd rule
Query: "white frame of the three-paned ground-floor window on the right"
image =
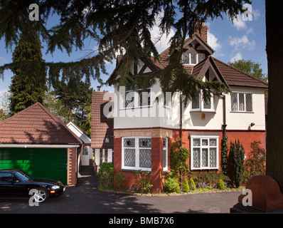
<path fill-rule="evenodd" d="M 200 146 L 193 146 L 193 140 L 194 139 L 200 139 Z M 216 139 L 216 146 L 210 146 L 209 142 L 210 139 Z M 202 140 L 208 140 L 208 145 L 202 145 Z M 218 145 L 218 141 L 219 141 L 219 136 L 218 135 L 191 135 L 191 170 L 218 170 L 218 166 L 219 166 L 219 145 Z M 200 167 L 193 167 L 193 148 L 200 148 Z M 208 166 L 203 167 L 202 166 L 202 149 L 203 148 L 208 148 Z M 215 167 L 210 167 L 210 148 L 216 148 L 216 165 Z"/>

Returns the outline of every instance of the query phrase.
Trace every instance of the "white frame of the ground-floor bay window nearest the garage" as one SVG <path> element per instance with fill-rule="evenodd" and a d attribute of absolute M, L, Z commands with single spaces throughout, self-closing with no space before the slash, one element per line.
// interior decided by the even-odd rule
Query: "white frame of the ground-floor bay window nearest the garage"
<path fill-rule="evenodd" d="M 124 147 L 124 139 L 127 139 L 127 138 L 134 138 L 135 140 L 134 147 Z M 139 138 L 150 138 L 151 139 L 151 137 L 144 137 L 144 136 L 122 137 L 122 170 L 151 171 L 151 167 L 150 168 L 139 167 L 139 149 L 149 149 L 149 148 L 139 148 Z M 124 149 L 135 149 L 135 166 L 134 167 L 124 165 Z M 151 149 L 151 152 L 152 152 L 152 149 Z"/>

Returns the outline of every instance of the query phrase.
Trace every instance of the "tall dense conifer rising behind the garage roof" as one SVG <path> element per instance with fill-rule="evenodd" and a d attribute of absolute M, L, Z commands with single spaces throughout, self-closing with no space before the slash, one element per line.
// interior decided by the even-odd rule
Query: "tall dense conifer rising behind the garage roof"
<path fill-rule="evenodd" d="M 36 31 L 22 33 L 13 53 L 14 76 L 10 86 L 11 114 L 43 102 L 47 90 L 46 66 L 41 53 L 41 41 Z"/>

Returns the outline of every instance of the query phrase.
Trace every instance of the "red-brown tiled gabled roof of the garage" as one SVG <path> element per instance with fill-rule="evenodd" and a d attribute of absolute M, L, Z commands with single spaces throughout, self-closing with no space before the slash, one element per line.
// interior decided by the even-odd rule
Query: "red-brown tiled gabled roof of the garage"
<path fill-rule="evenodd" d="M 80 145 L 82 141 L 41 103 L 0 123 L 1 144 Z"/>

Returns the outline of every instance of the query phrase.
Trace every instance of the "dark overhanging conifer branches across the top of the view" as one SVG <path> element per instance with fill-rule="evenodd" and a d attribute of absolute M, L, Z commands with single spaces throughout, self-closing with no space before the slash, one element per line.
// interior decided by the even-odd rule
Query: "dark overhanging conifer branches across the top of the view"
<path fill-rule="evenodd" d="M 85 38 L 97 41 L 97 52 L 90 53 L 74 63 L 46 63 L 55 71 L 49 71 L 51 78 L 57 78 L 58 72 L 67 69 L 77 69 L 81 78 L 93 77 L 102 83 L 100 71 L 105 72 L 105 61 L 115 58 L 117 51 L 124 50 L 124 61 L 120 68 L 119 85 L 126 83 L 135 86 L 146 85 L 153 78 L 159 78 L 163 90 L 181 91 L 186 99 L 196 97 L 200 89 L 204 91 L 204 98 L 210 93 L 221 93 L 226 90 L 219 83 L 203 83 L 197 80 L 183 68 L 180 63 L 181 52 L 186 37 L 208 18 L 215 19 L 226 14 L 235 19 L 237 14 L 244 12 L 242 5 L 251 3 L 248 0 L 69 0 L 36 1 L 39 5 L 39 21 L 29 21 L 24 13 L 31 1 L 4 1 L 0 6 L 0 38 L 4 37 L 6 46 L 11 45 L 17 38 L 17 31 L 26 29 L 35 23 L 38 32 L 48 43 L 48 51 L 55 48 L 65 49 L 68 53 L 73 47 L 82 49 Z M 60 23 L 50 30 L 46 29 L 41 20 L 46 20 L 50 12 L 60 15 Z M 171 55 L 169 66 L 154 73 L 150 77 L 129 77 L 129 66 L 139 58 L 159 59 L 151 29 L 156 24 L 156 17 L 161 17 L 158 24 L 162 33 L 169 34 L 171 28 L 176 31 L 171 38 Z M 21 20 L 24 18 L 24 20 Z M 6 26 L 6 25 L 9 26 Z M 4 66 L 9 68 L 9 65 Z M 0 68 L 0 75 L 4 71 Z M 57 73 L 56 73 L 57 72 Z M 3 75 L 3 74 L 2 74 Z M 67 74 L 65 76 L 68 76 Z M 142 80 L 142 82 L 141 82 Z"/>

